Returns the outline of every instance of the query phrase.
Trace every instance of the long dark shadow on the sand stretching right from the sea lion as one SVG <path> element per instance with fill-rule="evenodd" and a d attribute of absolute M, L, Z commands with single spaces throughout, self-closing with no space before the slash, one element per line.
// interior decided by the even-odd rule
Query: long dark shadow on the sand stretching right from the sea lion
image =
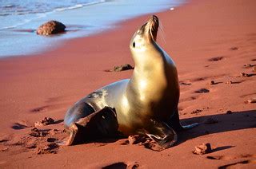
<path fill-rule="evenodd" d="M 206 123 L 207 119 L 213 119 L 214 123 Z M 242 112 L 232 112 L 231 114 L 218 114 L 210 116 L 197 116 L 188 119 L 182 119 L 182 124 L 198 123 L 198 127 L 178 133 L 178 143 L 184 143 L 186 140 L 194 139 L 199 136 L 219 132 L 230 132 L 246 128 L 256 128 L 256 110 Z"/>

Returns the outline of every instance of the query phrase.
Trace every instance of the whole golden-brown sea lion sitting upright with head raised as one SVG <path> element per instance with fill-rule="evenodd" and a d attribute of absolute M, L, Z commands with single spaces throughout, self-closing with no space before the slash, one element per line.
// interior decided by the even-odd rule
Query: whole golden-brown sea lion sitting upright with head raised
<path fill-rule="evenodd" d="M 158 25 L 153 15 L 131 38 L 135 66 L 130 79 L 90 93 L 66 112 L 67 145 L 120 132 L 149 136 L 163 150 L 177 141 L 176 132 L 198 125 L 179 123 L 177 69 L 156 42 Z"/>

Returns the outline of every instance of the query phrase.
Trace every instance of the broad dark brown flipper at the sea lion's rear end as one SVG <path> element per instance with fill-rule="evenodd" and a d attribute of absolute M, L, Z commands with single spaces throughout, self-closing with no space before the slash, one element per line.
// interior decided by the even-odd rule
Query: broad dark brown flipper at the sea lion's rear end
<path fill-rule="evenodd" d="M 70 138 L 66 145 L 115 136 L 118 133 L 116 113 L 113 108 L 102 108 L 71 124 L 68 131 L 70 132 Z"/>

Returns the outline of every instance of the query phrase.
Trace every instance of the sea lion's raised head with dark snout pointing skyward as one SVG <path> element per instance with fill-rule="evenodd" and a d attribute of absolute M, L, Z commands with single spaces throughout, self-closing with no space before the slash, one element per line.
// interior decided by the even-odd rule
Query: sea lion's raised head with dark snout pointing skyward
<path fill-rule="evenodd" d="M 153 15 L 150 19 L 134 33 L 130 41 L 130 50 L 133 52 L 146 50 L 147 45 L 156 41 L 158 34 L 158 17 Z"/>

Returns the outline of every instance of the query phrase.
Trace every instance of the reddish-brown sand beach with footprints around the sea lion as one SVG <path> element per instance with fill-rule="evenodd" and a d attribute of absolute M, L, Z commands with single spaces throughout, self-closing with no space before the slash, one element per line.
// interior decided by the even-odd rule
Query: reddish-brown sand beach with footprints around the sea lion
<path fill-rule="evenodd" d="M 42 151 L 47 138 L 63 139 L 62 120 L 74 102 L 130 77 L 132 70 L 104 70 L 134 65 L 130 38 L 149 15 L 36 56 L 1 59 L 0 168 L 255 168 L 256 103 L 245 103 L 256 98 L 255 6 L 254 0 L 192 0 L 156 14 L 163 26 L 158 42 L 178 68 L 182 123 L 200 124 L 161 152 L 124 145 L 126 139 Z M 44 117 L 57 123 L 37 127 L 40 136 L 30 136 L 34 122 Z M 210 118 L 214 123 L 206 123 Z M 213 151 L 194 155 L 201 143 Z"/>

